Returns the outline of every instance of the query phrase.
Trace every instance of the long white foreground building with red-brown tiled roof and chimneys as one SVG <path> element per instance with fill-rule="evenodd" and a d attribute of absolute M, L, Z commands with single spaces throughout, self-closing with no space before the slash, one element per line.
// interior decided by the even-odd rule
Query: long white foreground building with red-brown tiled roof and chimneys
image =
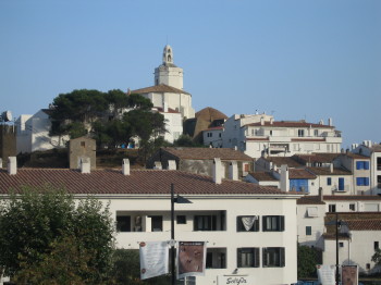
<path fill-rule="evenodd" d="M 171 165 L 173 163 L 170 163 Z M 115 219 L 116 246 L 137 249 L 140 241 L 170 240 L 170 189 L 174 185 L 192 203 L 175 203 L 175 239 L 207 241 L 205 276 L 197 285 L 226 284 L 244 277 L 250 284 L 293 284 L 297 280 L 296 199 L 300 196 L 271 187 L 221 178 L 216 159 L 213 177 L 174 170 L 122 171 L 82 166 L 72 170 L 0 170 L 0 194 L 21 185 L 64 186 L 76 198 L 109 203 Z M 235 175 L 237 176 L 237 175 Z M 48 181 L 47 181 L 48 179 Z"/>

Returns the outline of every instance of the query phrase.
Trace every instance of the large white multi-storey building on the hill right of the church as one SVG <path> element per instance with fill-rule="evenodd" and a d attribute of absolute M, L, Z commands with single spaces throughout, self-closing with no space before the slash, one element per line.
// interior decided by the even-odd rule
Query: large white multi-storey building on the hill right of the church
<path fill-rule="evenodd" d="M 265 153 L 291 157 L 295 153 L 340 152 L 342 137 L 329 119 L 318 124 L 302 121 L 274 121 L 267 114 L 235 114 L 228 119 L 222 147 L 237 147 L 253 158 Z"/>

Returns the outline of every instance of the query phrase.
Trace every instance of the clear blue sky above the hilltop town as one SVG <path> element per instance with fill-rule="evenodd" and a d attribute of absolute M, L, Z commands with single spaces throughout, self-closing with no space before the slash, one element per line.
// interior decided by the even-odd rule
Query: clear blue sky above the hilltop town
<path fill-rule="evenodd" d="M 380 0 L 0 0 L 0 112 L 153 85 L 165 45 L 199 111 L 273 114 L 380 142 Z"/>

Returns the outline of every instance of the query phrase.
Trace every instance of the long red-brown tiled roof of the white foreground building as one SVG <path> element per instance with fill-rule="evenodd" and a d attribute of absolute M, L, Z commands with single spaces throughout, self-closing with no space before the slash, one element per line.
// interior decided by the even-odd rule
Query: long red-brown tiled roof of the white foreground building
<path fill-rule="evenodd" d="M 9 175 L 5 170 L 0 170 L 0 194 L 3 195 L 25 185 L 39 187 L 46 184 L 82 195 L 169 195 L 171 183 L 177 194 L 187 195 L 286 194 L 253 183 L 223 179 L 222 184 L 216 184 L 209 176 L 182 171 L 132 170 L 131 175 L 123 175 L 121 170 L 97 170 L 83 174 L 62 169 L 19 169 L 17 174 Z"/>

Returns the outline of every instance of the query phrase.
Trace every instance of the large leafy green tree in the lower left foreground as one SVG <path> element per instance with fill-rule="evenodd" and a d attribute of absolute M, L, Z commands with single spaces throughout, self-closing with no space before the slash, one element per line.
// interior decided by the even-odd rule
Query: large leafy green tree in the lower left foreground
<path fill-rule="evenodd" d="M 107 276 L 114 226 L 97 200 L 76 206 L 63 189 L 25 187 L 2 200 L 0 228 L 0 268 L 15 280 L 100 284 Z"/>

